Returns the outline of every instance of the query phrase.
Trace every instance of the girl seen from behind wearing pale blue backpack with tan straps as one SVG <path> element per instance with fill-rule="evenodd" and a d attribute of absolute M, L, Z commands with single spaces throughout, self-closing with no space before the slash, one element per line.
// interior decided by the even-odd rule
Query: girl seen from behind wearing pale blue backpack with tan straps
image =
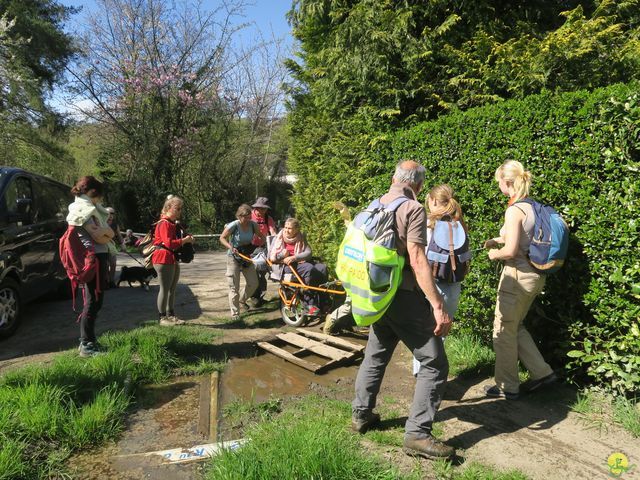
<path fill-rule="evenodd" d="M 425 253 L 436 288 L 444 300 L 444 309 L 453 319 L 458 311 L 462 280 L 469 271 L 471 260 L 467 226 L 453 189 L 447 184 L 429 191 L 425 207 L 429 212 Z M 419 370 L 420 362 L 414 358 L 413 374 L 417 375 Z"/>

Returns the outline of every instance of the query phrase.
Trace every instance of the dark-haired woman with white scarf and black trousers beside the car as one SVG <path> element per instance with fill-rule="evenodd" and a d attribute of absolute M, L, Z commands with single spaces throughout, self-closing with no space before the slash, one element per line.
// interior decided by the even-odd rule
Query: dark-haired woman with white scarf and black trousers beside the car
<path fill-rule="evenodd" d="M 104 186 L 95 177 L 80 178 L 71 193 L 75 201 L 69 205 L 67 223 L 74 230 L 85 249 L 95 252 L 98 267 L 96 275 L 83 283 L 84 306 L 80 314 L 80 346 L 81 357 L 91 357 L 98 353 L 96 344 L 95 322 L 104 301 L 104 290 L 107 288 L 109 269 L 109 249 L 107 244 L 114 232 L 107 225 L 109 212 L 100 203 L 104 195 Z M 70 232 L 71 234 L 72 232 Z"/>

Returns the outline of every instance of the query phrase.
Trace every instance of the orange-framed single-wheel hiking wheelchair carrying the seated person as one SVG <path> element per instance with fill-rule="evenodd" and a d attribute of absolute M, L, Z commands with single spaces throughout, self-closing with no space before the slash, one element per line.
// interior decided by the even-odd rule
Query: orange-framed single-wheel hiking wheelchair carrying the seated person
<path fill-rule="evenodd" d="M 317 287 L 307 285 L 292 265 L 289 266 L 291 273 L 285 273 L 285 265 L 272 263 L 266 256 L 240 256 L 252 262 L 256 268 L 268 270 L 269 279 L 279 284 L 280 315 L 287 325 L 300 327 L 312 318 L 323 318 L 344 303 L 346 292 L 339 280 L 327 281 Z M 303 299 L 308 292 L 314 292 L 318 296 L 319 310 L 315 315 L 308 313 Z"/>

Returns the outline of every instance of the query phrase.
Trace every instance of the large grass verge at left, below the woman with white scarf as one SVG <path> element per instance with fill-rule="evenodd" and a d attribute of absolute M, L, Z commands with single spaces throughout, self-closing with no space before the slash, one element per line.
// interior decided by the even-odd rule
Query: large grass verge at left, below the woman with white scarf
<path fill-rule="evenodd" d="M 220 369 L 207 328 L 150 326 L 100 337 L 104 355 L 58 355 L 0 379 L 0 480 L 59 478 L 76 450 L 117 437 L 139 388 Z"/>

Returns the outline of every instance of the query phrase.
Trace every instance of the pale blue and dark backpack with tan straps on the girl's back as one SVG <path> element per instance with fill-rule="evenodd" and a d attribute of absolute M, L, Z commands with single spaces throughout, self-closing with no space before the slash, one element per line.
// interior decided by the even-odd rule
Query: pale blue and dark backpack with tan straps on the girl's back
<path fill-rule="evenodd" d="M 469 273 L 469 236 L 462 223 L 438 220 L 427 246 L 427 260 L 433 277 L 447 283 L 461 282 Z"/>

